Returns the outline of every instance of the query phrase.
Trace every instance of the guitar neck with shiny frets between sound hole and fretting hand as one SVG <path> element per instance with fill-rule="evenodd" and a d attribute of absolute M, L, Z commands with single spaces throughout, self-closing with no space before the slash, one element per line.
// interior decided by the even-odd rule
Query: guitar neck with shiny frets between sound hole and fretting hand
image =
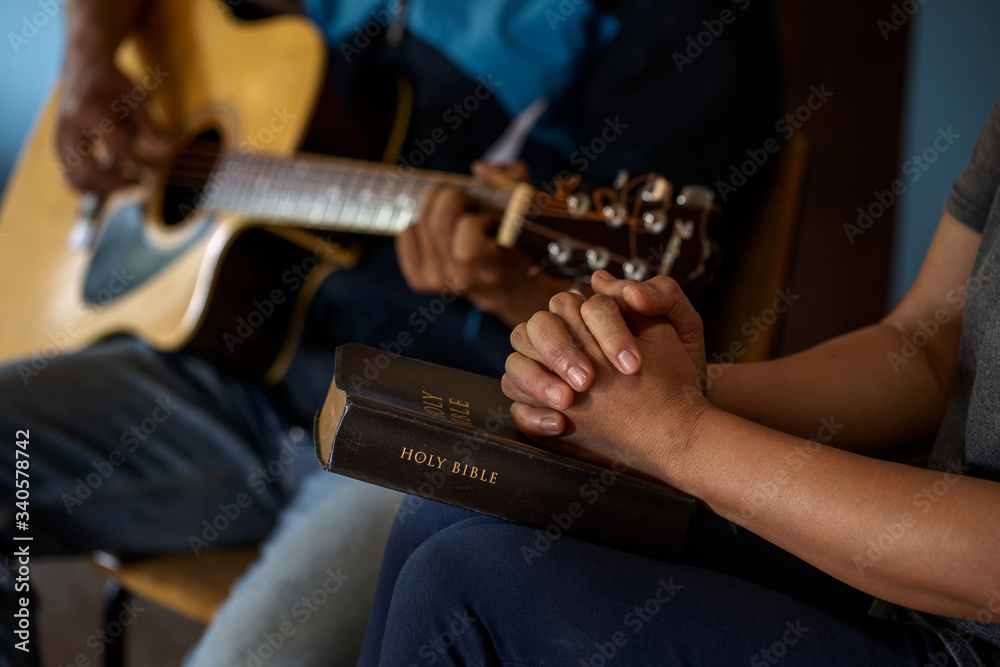
<path fill-rule="evenodd" d="M 439 186 L 504 211 L 513 188 L 468 176 L 318 155 L 219 155 L 202 208 L 297 227 L 393 236 L 416 221 L 421 197 Z"/>

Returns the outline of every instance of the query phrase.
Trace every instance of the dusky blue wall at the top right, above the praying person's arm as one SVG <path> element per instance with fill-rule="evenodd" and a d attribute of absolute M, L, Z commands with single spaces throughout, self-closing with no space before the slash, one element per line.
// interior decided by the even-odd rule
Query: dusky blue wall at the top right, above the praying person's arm
<path fill-rule="evenodd" d="M 927 0 L 910 25 L 903 154 L 900 165 L 933 146 L 938 129 L 961 135 L 900 197 L 890 302 L 906 292 L 941 218 L 952 182 L 1000 95 L 1000 3 Z"/>

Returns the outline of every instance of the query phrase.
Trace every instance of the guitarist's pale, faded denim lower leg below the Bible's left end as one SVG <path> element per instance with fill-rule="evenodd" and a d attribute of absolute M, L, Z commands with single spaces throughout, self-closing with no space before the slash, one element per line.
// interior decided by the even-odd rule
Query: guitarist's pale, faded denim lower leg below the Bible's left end
<path fill-rule="evenodd" d="M 355 664 L 402 498 L 317 465 L 187 665 Z"/>

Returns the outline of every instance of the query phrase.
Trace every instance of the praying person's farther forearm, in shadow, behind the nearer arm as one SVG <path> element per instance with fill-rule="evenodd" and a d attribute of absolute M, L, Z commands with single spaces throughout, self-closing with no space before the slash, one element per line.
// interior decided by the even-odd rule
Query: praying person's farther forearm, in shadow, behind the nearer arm
<path fill-rule="evenodd" d="M 927 347 L 903 356 L 909 349 L 902 349 L 902 338 L 883 322 L 781 359 L 713 365 L 709 399 L 759 424 L 843 449 L 876 454 L 912 445 L 940 424 L 951 386 L 935 373 Z"/>

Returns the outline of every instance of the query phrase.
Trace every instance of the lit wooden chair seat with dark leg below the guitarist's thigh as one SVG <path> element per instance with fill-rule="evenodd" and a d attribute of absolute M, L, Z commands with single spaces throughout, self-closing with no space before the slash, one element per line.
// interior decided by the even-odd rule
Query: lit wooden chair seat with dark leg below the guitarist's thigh
<path fill-rule="evenodd" d="M 181 553 L 136 560 L 121 560 L 103 551 L 95 552 L 94 568 L 108 577 L 105 627 L 110 627 L 122 605 L 134 596 L 207 625 L 229 595 L 233 582 L 257 555 L 257 546 L 213 547 L 197 556 Z M 107 667 L 124 665 L 124 638 L 123 632 L 108 646 Z"/>

